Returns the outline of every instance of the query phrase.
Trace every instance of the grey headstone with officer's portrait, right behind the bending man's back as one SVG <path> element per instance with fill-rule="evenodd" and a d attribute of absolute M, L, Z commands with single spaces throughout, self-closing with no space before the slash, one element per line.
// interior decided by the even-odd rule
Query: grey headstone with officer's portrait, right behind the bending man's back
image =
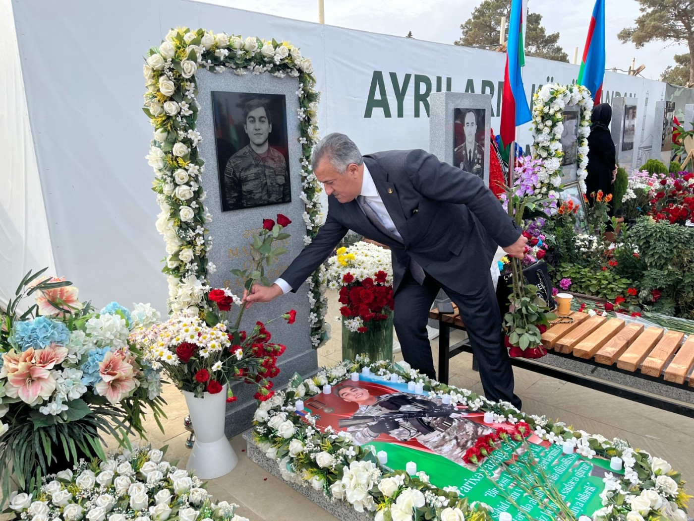
<path fill-rule="evenodd" d="M 491 94 L 432 92 L 429 150 L 489 186 Z"/>

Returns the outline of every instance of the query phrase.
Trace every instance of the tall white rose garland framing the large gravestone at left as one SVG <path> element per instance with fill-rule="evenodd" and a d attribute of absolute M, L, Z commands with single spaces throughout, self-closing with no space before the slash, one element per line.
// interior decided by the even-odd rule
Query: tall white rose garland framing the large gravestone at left
<path fill-rule="evenodd" d="M 158 194 L 157 202 L 162 210 L 157 230 L 166 242 L 166 266 L 162 271 L 168 276 L 167 304 L 174 313 L 209 308 L 204 287 L 208 274 L 215 270 L 207 258 L 212 237 L 206 235 L 205 228 L 212 215 L 203 204 L 206 192 L 200 183 L 205 162 L 198 154 L 198 143 L 203 138 L 196 131 L 199 105 L 195 73 L 199 67 L 217 73 L 230 69 L 239 76 L 269 72 L 276 78 L 298 78 L 305 245 L 315 238 L 321 219 L 318 197 L 321 187 L 310 167 L 311 151 L 318 138 L 319 100 L 310 58 L 304 58 L 298 47 L 288 42 L 253 36 L 242 40 L 239 36 L 213 34 L 203 29 L 171 29 L 160 46 L 152 47 L 147 53 L 143 110 L 155 129 L 146 158 L 154 169 L 152 190 Z M 318 272 L 309 281 L 309 301 L 311 341 L 318 347 L 327 338 L 323 325 L 327 300 Z"/>

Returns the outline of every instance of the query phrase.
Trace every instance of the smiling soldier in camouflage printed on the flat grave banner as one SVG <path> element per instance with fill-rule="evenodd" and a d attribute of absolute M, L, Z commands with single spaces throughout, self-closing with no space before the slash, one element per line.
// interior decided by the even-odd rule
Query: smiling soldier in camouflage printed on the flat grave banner
<path fill-rule="evenodd" d="M 407 392 L 393 392 L 389 395 L 373 396 L 369 391 L 350 385 L 340 386 L 337 395 L 346 402 L 359 404 L 355 415 L 380 416 L 394 412 L 426 411 L 442 406 L 441 398 L 433 396 L 410 395 Z M 463 465 L 466 450 L 475 445 L 480 436 L 493 432 L 486 425 L 473 422 L 457 414 L 450 416 L 408 419 L 401 422 L 393 420 L 374 421 L 369 424 L 348 427 L 355 443 L 369 443 L 382 433 L 387 433 L 400 441 L 416 439 L 432 452 Z"/>

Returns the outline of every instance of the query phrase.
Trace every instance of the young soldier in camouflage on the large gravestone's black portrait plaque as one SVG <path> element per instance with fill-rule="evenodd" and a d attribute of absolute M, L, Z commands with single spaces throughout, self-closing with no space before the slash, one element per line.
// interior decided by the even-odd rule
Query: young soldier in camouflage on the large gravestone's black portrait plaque
<path fill-rule="evenodd" d="M 226 163 L 225 210 L 291 201 L 285 156 L 269 145 L 272 132 L 265 104 L 253 99 L 244 107 L 244 131 L 251 140 Z"/>

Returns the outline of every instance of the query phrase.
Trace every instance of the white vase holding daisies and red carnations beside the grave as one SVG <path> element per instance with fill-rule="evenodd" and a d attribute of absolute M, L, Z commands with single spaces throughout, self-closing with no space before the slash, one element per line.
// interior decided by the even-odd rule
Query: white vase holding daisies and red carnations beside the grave
<path fill-rule="evenodd" d="M 226 386 L 214 395 L 205 392 L 202 398 L 196 398 L 190 391 L 183 391 L 183 396 L 195 429 L 195 444 L 185 469 L 200 479 L 228 474 L 239 463 L 239 458 L 224 436 Z"/>

